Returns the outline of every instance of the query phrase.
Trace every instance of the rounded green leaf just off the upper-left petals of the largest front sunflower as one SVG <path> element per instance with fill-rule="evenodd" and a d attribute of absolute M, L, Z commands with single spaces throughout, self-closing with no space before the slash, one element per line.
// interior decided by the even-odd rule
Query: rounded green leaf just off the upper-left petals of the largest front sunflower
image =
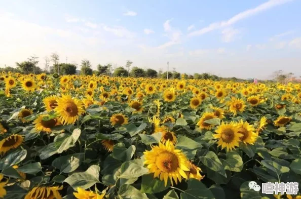
<path fill-rule="evenodd" d="M 131 160 L 134 155 L 136 147 L 134 145 L 130 146 L 128 149 L 125 147 L 123 142 L 114 145 L 113 148 L 113 157 L 122 162 Z"/>

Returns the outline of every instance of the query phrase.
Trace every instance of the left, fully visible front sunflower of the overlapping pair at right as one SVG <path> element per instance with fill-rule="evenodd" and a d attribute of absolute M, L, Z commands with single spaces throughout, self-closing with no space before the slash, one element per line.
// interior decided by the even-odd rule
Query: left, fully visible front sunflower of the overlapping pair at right
<path fill-rule="evenodd" d="M 218 139 L 217 146 L 221 148 L 227 148 L 227 150 L 232 150 L 235 146 L 239 146 L 240 137 L 243 134 L 238 133 L 238 127 L 233 122 L 231 123 L 222 123 L 217 130 L 215 131 L 214 138 Z"/>

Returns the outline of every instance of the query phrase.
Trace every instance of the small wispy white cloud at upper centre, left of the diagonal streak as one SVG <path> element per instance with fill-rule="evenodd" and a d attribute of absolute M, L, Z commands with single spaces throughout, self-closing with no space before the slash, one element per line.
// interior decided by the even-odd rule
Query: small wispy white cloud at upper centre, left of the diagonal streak
<path fill-rule="evenodd" d="M 180 43 L 180 37 L 182 32 L 176 28 L 171 27 L 170 21 L 171 20 L 166 20 L 163 24 L 164 31 L 166 32 L 166 36 L 170 39 L 170 41 L 163 45 L 160 45 L 158 47 L 159 49 L 164 49 Z"/>

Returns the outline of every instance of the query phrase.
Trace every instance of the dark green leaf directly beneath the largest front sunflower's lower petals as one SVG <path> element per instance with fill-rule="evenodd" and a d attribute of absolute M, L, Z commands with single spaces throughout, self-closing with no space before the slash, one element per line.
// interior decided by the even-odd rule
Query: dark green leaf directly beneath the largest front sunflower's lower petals
<path fill-rule="evenodd" d="M 154 178 L 154 174 L 142 176 L 141 192 L 142 193 L 159 193 L 170 186 L 168 181 L 167 186 L 164 186 L 164 181 L 159 178 Z"/>

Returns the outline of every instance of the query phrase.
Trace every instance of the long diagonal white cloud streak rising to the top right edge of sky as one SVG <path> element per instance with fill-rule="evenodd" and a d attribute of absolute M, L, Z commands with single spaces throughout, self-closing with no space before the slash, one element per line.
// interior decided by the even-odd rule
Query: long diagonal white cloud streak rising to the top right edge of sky
<path fill-rule="evenodd" d="M 241 21 L 245 18 L 256 15 L 256 14 L 262 12 L 262 11 L 271 9 L 275 6 L 279 6 L 279 5 L 285 4 L 285 3 L 290 2 L 290 1 L 293 1 L 293 0 L 270 0 L 266 3 L 260 4 L 259 6 L 255 7 L 255 8 L 243 11 L 243 12 L 233 16 L 229 20 L 211 23 L 207 27 L 204 27 L 200 30 L 196 30 L 196 31 L 191 32 L 189 34 L 189 36 L 202 35 L 202 34 L 205 34 L 207 32 L 215 30 L 215 29 L 219 29 L 219 28 L 223 28 L 223 27 L 233 25 L 233 24 L 237 23 L 238 21 Z"/>

